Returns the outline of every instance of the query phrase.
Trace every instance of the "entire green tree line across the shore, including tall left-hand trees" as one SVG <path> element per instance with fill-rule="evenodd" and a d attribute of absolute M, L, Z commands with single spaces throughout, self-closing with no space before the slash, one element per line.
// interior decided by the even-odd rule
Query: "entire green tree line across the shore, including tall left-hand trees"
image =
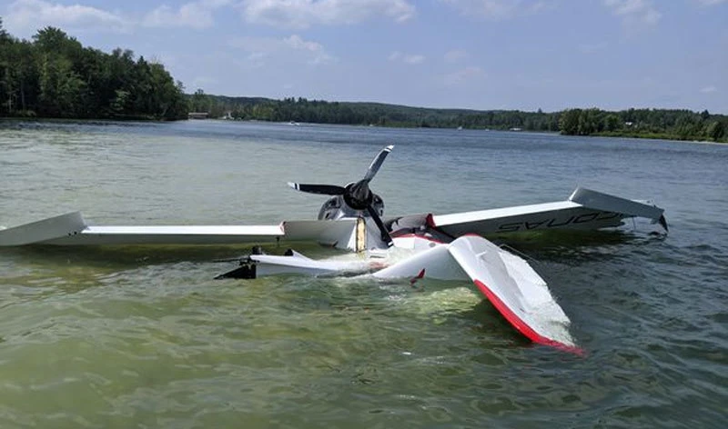
<path fill-rule="evenodd" d="M 435 109 L 306 98 L 184 93 L 164 65 L 116 48 L 84 47 L 55 27 L 31 41 L 9 35 L 0 18 L 0 116 L 110 119 L 209 117 L 271 122 L 471 128 L 728 141 L 728 116 L 690 110 L 598 108 L 561 112 Z"/>

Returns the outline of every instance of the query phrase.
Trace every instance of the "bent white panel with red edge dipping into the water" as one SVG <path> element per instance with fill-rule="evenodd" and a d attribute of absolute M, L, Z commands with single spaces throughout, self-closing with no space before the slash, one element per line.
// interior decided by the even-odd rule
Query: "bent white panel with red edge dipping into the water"
<path fill-rule="evenodd" d="M 521 257 L 480 236 L 466 235 L 450 244 L 434 245 L 373 275 L 413 281 L 422 277 L 470 279 L 490 304 L 534 343 L 582 353 L 569 334 L 569 317 L 541 276 Z"/>

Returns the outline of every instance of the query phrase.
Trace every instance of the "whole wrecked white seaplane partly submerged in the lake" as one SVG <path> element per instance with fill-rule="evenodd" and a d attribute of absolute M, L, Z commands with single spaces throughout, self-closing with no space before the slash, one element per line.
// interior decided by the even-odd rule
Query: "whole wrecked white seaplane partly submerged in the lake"
<path fill-rule="evenodd" d="M 483 238 L 488 234 L 550 229 L 601 229 L 631 217 L 651 219 L 667 231 L 663 210 L 577 188 L 566 201 L 456 214 L 384 215 L 384 202 L 369 188 L 394 146 L 382 149 L 364 177 L 349 185 L 289 183 L 329 195 L 318 220 L 277 225 L 96 226 L 79 213 L 63 214 L 0 230 L 0 246 L 29 244 L 280 244 L 318 242 L 353 251 L 324 260 L 288 250 L 264 254 L 254 247 L 239 265 L 217 278 L 254 279 L 271 274 L 368 275 L 377 279 L 469 281 L 521 334 L 538 344 L 578 352 L 569 318 L 546 282 L 520 256 Z"/>

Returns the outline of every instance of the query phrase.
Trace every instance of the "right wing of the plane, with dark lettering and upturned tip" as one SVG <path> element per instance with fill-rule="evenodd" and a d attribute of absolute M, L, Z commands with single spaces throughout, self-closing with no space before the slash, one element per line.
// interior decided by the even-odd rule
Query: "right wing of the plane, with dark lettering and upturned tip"
<path fill-rule="evenodd" d="M 619 226 L 629 217 L 644 217 L 667 231 L 663 209 L 649 202 L 628 200 L 577 187 L 568 200 L 538 205 L 519 205 L 455 214 L 422 214 L 389 219 L 392 230 L 412 229 L 424 223 L 435 231 L 457 237 L 462 234 L 501 234 L 534 230 L 588 230 Z"/>

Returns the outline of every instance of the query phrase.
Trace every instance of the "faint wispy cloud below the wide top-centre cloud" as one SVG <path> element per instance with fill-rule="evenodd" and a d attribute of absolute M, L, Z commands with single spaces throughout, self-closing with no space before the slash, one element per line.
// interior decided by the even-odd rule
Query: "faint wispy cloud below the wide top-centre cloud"
<path fill-rule="evenodd" d="M 299 35 L 282 39 L 273 37 L 238 37 L 227 43 L 230 47 L 248 53 L 248 65 L 263 66 L 269 62 L 305 63 L 320 65 L 334 61 L 324 46 L 318 42 L 304 40 Z"/>

